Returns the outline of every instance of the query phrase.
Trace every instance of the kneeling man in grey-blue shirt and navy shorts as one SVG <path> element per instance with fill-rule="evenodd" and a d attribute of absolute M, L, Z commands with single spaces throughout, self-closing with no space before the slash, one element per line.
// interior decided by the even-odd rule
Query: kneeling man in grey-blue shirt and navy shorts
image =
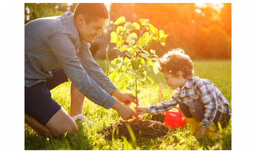
<path fill-rule="evenodd" d="M 25 25 L 25 123 L 38 133 L 62 137 L 66 131 L 77 132 L 77 119 L 91 124 L 82 115 L 85 97 L 105 109 L 115 109 L 123 120 L 133 116 L 140 120 L 128 107 L 130 101 L 138 103 L 136 98 L 115 87 L 89 50 L 108 18 L 104 4 L 77 4 L 74 15 L 66 12 Z M 68 78 L 69 114 L 49 92 Z"/>

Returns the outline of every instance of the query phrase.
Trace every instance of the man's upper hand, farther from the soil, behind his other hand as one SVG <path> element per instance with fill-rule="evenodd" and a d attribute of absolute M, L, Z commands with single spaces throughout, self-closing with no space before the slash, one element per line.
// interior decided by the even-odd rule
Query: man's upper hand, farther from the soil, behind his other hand
<path fill-rule="evenodd" d="M 124 105 L 126 105 L 126 106 L 130 106 L 130 104 L 132 104 L 132 103 L 136 104 L 140 101 L 140 100 L 136 101 L 136 98 L 132 94 L 123 93 L 123 92 L 120 92 L 119 90 L 115 90 L 115 91 L 111 92 L 110 95 L 115 97 L 121 103 L 124 103 Z M 130 102 L 132 102 L 132 103 L 130 103 Z M 138 103 L 138 105 L 139 105 L 139 103 Z"/>

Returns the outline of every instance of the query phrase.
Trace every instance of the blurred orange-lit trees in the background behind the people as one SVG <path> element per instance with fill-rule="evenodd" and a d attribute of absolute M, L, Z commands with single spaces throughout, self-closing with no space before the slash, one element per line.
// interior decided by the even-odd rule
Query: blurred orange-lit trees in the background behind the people
<path fill-rule="evenodd" d="M 74 12 L 77 3 L 25 3 L 25 24 L 48 16 L 60 16 L 67 11 Z M 113 48 L 110 33 L 120 16 L 126 21 L 137 22 L 149 19 L 158 30 L 169 34 L 165 47 L 153 42 L 149 49 L 156 50 L 159 57 L 168 50 L 181 47 L 192 60 L 231 59 L 231 3 L 113 3 L 105 4 L 110 12 L 102 35 L 91 44 L 90 51 L 95 60 L 104 60 L 108 46 L 108 58 L 125 56 Z M 135 32 L 135 31 L 134 31 Z M 144 31 L 146 32 L 146 31 Z M 138 33 L 137 33 L 138 34 Z"/>

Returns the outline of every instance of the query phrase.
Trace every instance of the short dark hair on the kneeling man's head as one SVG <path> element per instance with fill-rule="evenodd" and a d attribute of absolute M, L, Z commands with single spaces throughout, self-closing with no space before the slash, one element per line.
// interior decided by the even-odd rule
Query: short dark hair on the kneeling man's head
<path fill-rule="evenodd" d="M 92 21 L 98 21 L 98 18 L 110 18 L 107 7 L 103 3 L 79 3 L 74 10 L 74 19 L 80 14 L 84 15 L 87 25 Z"/>

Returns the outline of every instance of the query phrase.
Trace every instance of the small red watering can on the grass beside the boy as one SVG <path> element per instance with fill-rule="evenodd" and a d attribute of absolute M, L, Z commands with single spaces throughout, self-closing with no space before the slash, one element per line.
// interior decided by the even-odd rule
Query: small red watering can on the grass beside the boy
<path fill-rule="evenodd" d="M 182 120 L 182 112 L 180 112 L 179 107 L 174 107 L 179 110 L 179 112 L 168 110 L 165 112 L 165 126 L 172 127 L 172 129 L 176 129 L 177 127 L 183 127 L 187 120 L 186 118 Z"/>

